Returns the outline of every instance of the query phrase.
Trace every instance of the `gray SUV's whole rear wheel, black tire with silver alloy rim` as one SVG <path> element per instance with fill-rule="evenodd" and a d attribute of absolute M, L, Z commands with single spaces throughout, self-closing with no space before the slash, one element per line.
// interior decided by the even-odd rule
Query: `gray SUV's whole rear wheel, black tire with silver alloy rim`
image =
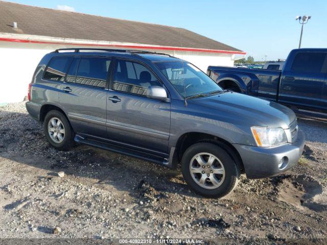
<path fill-rule="evenodd" d="M 58 150 L 66 151 L 75 145 L 75 133 L 66 116 L 60 111 L 52 110 L 45 115 L 43 132 L 49 143 Z M 55 133 L 57 133 L 56 137 L 54 137 Z"/>

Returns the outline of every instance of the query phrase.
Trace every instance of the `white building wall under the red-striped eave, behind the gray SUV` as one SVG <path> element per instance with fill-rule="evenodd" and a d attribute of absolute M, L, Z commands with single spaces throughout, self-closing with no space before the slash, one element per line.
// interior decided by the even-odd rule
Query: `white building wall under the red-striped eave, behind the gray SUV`
<path fill-rule="evenodd" d="M 0 41 L 0 104 L 20 102 L 27 96 L 28 84 L 41 58 L 64 44 L 35 44 Z M 85 46 L 83 46 L 85 47 Z M 94 46 L 93 46 L 94 47 Z M 232 66 L 234 55 L 201 52 L 152 50 L 190 61 L 204 72 L 209 65 Z"/>

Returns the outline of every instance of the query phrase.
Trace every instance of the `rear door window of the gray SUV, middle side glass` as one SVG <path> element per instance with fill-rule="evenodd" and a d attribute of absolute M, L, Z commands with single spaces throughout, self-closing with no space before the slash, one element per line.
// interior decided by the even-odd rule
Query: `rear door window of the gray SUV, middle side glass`
<path fill-rule="evenodd" d="M 110 59 L 99 57 L 81 58 L 76 83 L 105 88 Z"/>

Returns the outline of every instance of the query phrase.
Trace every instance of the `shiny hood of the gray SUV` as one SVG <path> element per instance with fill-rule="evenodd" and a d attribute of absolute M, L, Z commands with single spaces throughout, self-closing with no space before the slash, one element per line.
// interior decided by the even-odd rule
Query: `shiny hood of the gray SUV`
<path fill-rule="evenodd" d="M 222 117 L 222 120 L 239 121 L 249 126 L 288 129 L 296 118 L 295 113 L 286 106 L 236 92 L 194 99 L 192 102 L 201 106 L 202 111 L 203 107 L 211 108 L 210 112 Z"/>

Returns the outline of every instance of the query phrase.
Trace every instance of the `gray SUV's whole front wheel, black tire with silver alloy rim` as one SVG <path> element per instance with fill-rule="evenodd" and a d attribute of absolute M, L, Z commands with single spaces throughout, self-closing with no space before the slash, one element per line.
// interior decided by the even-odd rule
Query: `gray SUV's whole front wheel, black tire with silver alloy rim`
<path fill-rule="evenodd" d="M 202 159 L 204 164 L 199 164 L 197 159 Z M 213 163 L 210 164 L 211 162 Z M 186 183 L 197 194 L 207 198 L 224 197 L 237 186 L 240 178 L 240 169 L 235 161 L 224 149 L 213 143 L 201 142 L 191 145 L 183 154 L 181 165 Z M 200 169 L 201 173 L 197 173 Z"/>

